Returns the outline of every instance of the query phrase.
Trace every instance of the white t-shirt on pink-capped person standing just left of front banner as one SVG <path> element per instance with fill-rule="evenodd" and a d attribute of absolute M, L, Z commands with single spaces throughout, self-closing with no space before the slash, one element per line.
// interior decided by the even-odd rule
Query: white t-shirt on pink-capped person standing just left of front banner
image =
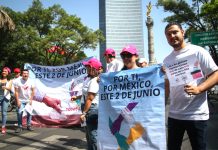
<path fill-rule="evenodd" d="M 88 80 L 84 86 L 83 86 L 83 89 L 82 89 L 82 93 L 83 93 L 83 98 L 86 100 L 87 98 L 87 95 L 88 95 L 88 92 L 91 92 L 91 93 L 95 93 L 95 98 L 92 100 L 92 103 L 93 104 L 97 104 L 98 105 L 98 101 L 99 101 L 99 83 L 98 83 L 98 78 L 95 77 L 95 78 L 92 78 L 90 80 Z"/>

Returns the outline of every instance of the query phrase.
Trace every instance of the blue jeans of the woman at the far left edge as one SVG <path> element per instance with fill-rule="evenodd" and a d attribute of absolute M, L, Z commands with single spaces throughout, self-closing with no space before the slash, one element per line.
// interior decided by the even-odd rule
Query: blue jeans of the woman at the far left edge
<path fill-rule="evenodd" d="M 2 113 L 2 126 L 4 127 L 7 122 L 7 110 L 8 110 L 9 100 L 4 97 L 1 100 L 0 105 L 1 105 L 1 113 Z"/>

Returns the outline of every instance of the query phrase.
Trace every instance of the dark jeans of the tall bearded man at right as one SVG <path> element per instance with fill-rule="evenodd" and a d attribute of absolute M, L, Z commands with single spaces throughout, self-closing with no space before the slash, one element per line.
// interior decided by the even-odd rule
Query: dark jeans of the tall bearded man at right
<path fill-rule="evenodd" d="M 206 150 L 207 120 L 168 118 L 168 150 L 180 150 L 185 131 L 193 150 Z"/>

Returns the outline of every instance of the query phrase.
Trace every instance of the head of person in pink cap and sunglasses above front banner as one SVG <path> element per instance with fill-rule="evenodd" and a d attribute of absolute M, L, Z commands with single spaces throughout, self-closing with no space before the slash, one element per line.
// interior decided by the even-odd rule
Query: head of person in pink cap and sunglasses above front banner
<path fill-rule="evenodd" d="M 136 69 L 138 60 L 138 52 L 134 45 L 127 45 L 120 53 L 124 67 L 122 70 Z"/>

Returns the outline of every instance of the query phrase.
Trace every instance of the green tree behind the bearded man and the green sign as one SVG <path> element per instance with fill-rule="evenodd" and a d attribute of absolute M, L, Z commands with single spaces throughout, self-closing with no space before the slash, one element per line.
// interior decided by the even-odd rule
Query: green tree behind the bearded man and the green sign
<path fill-rule="evenodd" d="M 190 40 L 191 32 L 218 30 L 217 0 L 158 0 L 166 12 L 172 13 L 165 22 L 178 22 L 187 27 L 186 38 Z M 217 45 L 209 46 L 209 52 L 218 65 Z"/>

